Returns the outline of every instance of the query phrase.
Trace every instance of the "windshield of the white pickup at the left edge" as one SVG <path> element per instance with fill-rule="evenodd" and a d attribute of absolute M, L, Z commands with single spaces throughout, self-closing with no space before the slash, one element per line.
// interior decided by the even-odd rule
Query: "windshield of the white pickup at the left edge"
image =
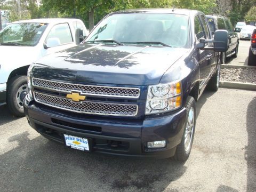
<path fill-rule="evenodd" d="M 46 23 L 12 23 L 0 31 L 0 45 L 35 46 Z"/>

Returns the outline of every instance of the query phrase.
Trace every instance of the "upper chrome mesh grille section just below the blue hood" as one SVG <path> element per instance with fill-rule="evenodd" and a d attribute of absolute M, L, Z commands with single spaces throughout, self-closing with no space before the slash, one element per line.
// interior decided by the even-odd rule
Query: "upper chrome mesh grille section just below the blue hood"
<path fill-rule="evenodd" d="M 56 81 L 49 81 L 45 79 L 33 78 L 32 85 L 34 87 L 41 87 L 52 91 L 61 91 L 71 93 L 71 91 L 81 91 L 86 95 L 100 95 L 107 97 L 118 98 L 139 98 L 140 89 L 126 88 L 126 87 L 110 87 L 110 86 L 94 86 L 71 84 Z"/>

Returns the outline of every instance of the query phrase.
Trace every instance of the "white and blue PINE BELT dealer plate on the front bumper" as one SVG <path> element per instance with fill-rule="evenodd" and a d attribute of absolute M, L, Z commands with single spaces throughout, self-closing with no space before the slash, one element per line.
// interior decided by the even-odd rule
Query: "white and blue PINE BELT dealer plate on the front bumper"
<path fill-rule="evenodd" d="M 64 134 L 66 146 L 70 146 L 73 149 L 89 151 L 88 139 L 75 137 L 72 135 Z"/>

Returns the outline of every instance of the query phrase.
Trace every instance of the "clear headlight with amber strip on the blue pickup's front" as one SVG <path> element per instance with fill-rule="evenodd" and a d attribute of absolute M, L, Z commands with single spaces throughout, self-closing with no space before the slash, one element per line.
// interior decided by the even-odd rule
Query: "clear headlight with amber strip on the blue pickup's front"
<path fill-rule="evenodd" d="M 181 82 L 150 85 L 146 115 L 163 113 L 181 107 Z"/>

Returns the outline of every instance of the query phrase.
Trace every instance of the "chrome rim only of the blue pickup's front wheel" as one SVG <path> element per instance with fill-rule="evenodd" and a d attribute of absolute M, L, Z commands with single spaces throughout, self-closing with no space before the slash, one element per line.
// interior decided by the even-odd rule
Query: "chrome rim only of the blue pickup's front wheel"
<path fill-rule="evenodd" d="M 188 118 L 186 123 L 186 130 L 185 130 L 184 146 L 185 146 L 186 153 L 191 148 L 193 134 L 194 134 L 194 122 L 195 122 L 195 110 L 193 107 L 191 107 L 188 112 Z"/>

